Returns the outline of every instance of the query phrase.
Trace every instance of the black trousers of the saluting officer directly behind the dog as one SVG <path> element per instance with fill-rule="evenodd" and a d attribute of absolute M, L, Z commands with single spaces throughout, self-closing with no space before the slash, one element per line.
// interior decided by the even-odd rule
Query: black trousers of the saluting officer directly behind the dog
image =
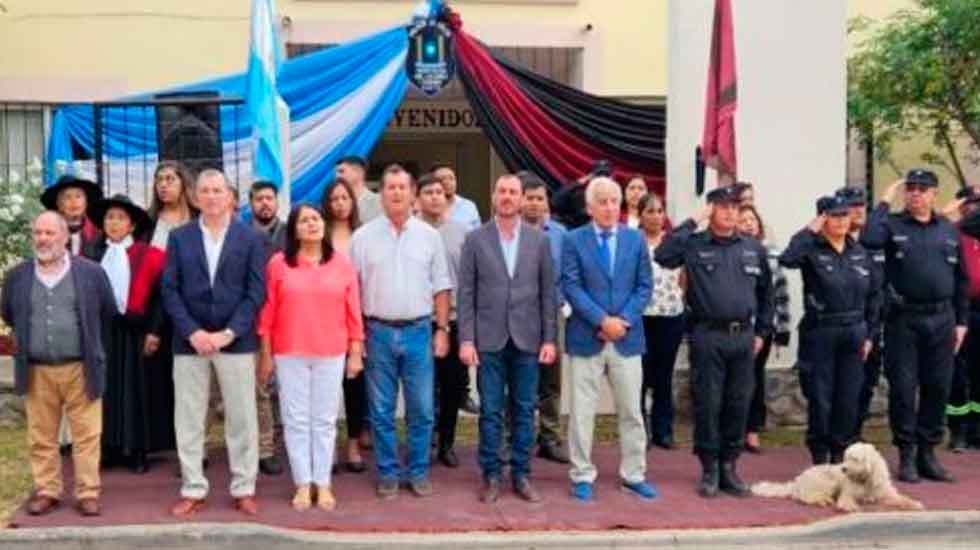
<path fill-rule="evenodd" d="M 806 443 L 814 455 L 843 452 L 857 436 L 866 338 L 864 323 L 800 329 L 797 367 L 807 398 Z"/>

